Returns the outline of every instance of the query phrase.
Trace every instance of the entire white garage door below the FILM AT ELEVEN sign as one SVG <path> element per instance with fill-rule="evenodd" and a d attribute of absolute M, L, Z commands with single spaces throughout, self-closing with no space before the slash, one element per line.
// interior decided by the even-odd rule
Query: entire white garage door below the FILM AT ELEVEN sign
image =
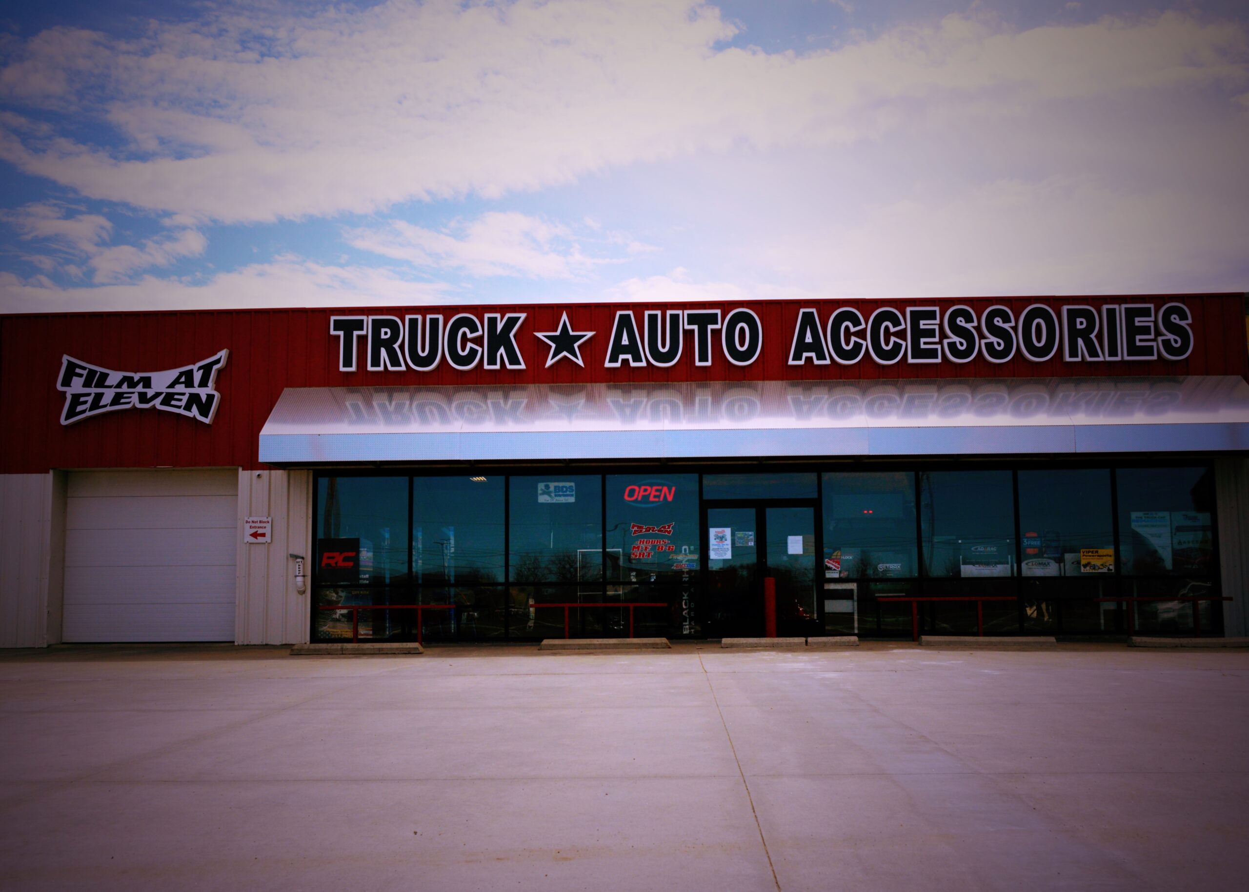
<path fill-rule="evenodd" d="M 72 471 L 65 641 L 234 641 L 239 472 Z"/>

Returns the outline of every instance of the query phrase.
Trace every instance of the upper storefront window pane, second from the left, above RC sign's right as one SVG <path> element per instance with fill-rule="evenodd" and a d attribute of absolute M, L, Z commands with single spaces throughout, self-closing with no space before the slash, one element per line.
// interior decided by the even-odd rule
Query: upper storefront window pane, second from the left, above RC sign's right
<path fill-rule="evenodd" d="M 412 480 L 417 585 L 503 581 L 503 475 Z"/>

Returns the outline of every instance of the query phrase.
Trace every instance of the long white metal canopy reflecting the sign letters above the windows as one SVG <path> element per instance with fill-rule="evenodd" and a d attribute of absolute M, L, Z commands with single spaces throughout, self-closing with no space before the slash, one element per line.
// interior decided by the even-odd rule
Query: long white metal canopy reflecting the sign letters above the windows
<path fill-rule="evenodd" d="M 1237 376 L 289 387 L 260 432 L 271 465 L 1245 448 Z"/>

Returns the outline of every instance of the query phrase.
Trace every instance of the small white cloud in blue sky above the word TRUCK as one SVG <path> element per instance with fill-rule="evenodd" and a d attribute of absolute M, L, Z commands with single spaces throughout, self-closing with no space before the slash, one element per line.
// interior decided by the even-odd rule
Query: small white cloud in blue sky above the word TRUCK
<path fill-rule="evenodd" d="M 456 221 L 445 231 L 392 221 L 382 227 L 347 230 L 345 239 L 353 247 L 417 267 L 477 277 L 567 280 L 613 262 L 582 254 L 567 226 L 517 212 L 491 211 Z"/>

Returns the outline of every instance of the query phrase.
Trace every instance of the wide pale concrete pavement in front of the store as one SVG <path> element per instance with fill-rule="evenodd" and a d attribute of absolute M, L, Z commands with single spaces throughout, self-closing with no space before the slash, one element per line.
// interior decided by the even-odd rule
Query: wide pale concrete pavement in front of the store
<path fill-rule="evenodd" d="M 0 655 L 5 888 L 1240 890 L 1249 653 Z"/>

